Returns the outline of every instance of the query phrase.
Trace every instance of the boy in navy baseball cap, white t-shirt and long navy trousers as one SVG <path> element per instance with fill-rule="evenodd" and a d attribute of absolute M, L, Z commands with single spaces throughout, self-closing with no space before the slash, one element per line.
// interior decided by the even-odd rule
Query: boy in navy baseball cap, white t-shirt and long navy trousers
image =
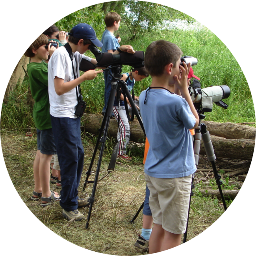
<path fill-rule="evenodd" d="M 61 207 L 63 217 L 81 221 L 84 215 L 78 208 L 87 206 L 88 198 L 78 197 L 78 186 L 83 170 L 84 151 L 81 140 L 80 118 L 75 114 L 81 98 L 80 83 L 93 80 L 103 70 L 88 70 L 80 76 L 82 59 L 97 63 L 83 53 L 91 44 L 102 47 L 94 29 L 80 23 L 69 33 L 68 43 L 52 54 L 48 63 L 48 89 L 52 131 L 61 168 Z M 122 48 L 121 48 L 122 47 Z M 131 46 L 121 46 L 121 51 L 134 53 Z"/>

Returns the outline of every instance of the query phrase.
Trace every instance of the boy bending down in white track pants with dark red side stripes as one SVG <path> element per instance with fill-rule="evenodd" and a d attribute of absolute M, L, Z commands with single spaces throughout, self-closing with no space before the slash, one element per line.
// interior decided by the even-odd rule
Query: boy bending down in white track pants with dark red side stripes
<path fill-rule="evenodd" d="M 134 83 L 136 81 L 141 81 L 146 77 L 148 77 L 148 72 L 143 67 L 143 68 L 135 68 L 132 70 L 132 72 L 122 74 L 121 80 L 126 81 L 126 86 L 129 92 L 131 92 L 134 87 Z M 126 98 L 126 100 L 128 104 L 128 111 L 132 112 L 132 107 L 128 98 Z M 139 109 L 138 96 L 134 96 L 134 102 L 137 108 Z M 116 119 L 118 119 L 118 114 L 120 118 L 119 129 L 117 133 L 117 141 L 119 141 L 119 150 L 118 150 L 117 157 L 126 161 L 130 161 L 132 158 L 126 155 L 126 147 L 130 141 L 130 124 L 126 115 L 125 106 L 124 106 L 124 96 L 122 94 L 120 97 L 120 102 L 118 102 L 117 97 L 115 97 L 113 112 Z"/>

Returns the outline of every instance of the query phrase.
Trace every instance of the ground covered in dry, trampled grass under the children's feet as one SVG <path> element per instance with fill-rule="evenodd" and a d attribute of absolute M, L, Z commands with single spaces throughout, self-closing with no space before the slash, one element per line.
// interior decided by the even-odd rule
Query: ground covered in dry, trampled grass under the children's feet
<path fill-rule="evenodd" d="M 137 234 L 140 234 L 142 227 L 142 212 L 134 223 L 130 223 L 145 197 L 146 184 L 141 159 L 144 148 L 140 149 L 136 146 L 137 152 L 141 150 L 140 157 L 134 156 L 133 161 L 130 163 L 120 162 L 116 165 L 115 171 L 98 182 L 96 201 L 93 205 L 89 229 L 85 229 L 85 221 L 70 223 L 64 220 L 58 203 L 42 208 L 40 202 L 30 200 L 33 191 L 33 160 L 36 154 L 36 135 L 26 137 L 25 134 L 15 131 L 2 130 L 0 139 L 9 178 L 19 195 L 18 199 L 12 186 L 8 186 L 12 194 L 15 195 L 17 205 L 19 205 L 17 213 L 20 221 L 16 223 L 19 227 L 19 236 L 23 234 L 22 232 L 27 231 L 32 235 L 29 240 L 40 240 L 41 242 L 43 234 L 43 237 L 48 238 L 44 241 L 45 245 L 49 243 L 50 248 L 55 246 L 57 250 L 58 244 L 69 246 L 71 244 L 68 242 L 70 242 L 83 249 L 102 254 L 120 256 L 147 255 L 147 252 L 134 247 Z M 89 167 L 94 149 L 90 138 L 83 137 L 83 143 L 85 147 L 85 171 L 80 182 L 80 192 L 78 194 L 80 197 L 85 197 L 87 194 L 90 195 L 93 186 L 88 185 L 86 193 L 82 192 L 86 177 L 85 173 Z M 108 151 L 106 151 L 107 154 Z M 104 156 L 100 177 L 107 173 L 108 162 L 109 157 Z M 218 169 L 225 168 L 225 163 L 218 163 Z M 248 165 L 249 163 L 246 164 Z M 201 157 L 198 168 L 201 170 L 198 170 L 195 175 L 196 187 L 194 189 L 195 194 L 191 200 L 187 241 L 207 230 L 224 213 L 221 200 L 216 197 L 203 197 L 200 192 L 200 189 L 216 189 L 211 174 L 212 171 L 208 171 L 211 169 L 210 163 L 206 158 Z M 222 172 L 221 175 L 223 180 L 226 181 L 226 173 Z M 93 179 L 94 174 L 90 176 L 90 180 Z M 228 181 L 228 184 L 224 185 L 224 189 L 240 189 L 243 186 L 243 181 L 237 176 L 229 178 Z M 51 189 L 58 191 L 53 184 L 51 184 Z M 232 200 L 227 200 L 227 207 L 231 203 Z M 87 217 L 88 208 L 82 208 L 81 212 Z M 51 232 L 46 231 L 45 227 Z"/>

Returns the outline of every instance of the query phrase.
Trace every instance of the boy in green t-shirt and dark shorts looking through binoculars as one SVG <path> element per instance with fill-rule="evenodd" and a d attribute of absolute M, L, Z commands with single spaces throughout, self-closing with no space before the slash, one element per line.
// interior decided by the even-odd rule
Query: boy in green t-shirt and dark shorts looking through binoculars
<path fill-rule="evenodd" d="M 41 206 L 47 206 L 60 200 L 58 193 L 50 191 L 50 161 L 57 154 L 50 120 L 50 103 L 48 95 L 48 64 L 42 62 L 52 55 L 56 48 L 48 44 L 46 35 L 39 35 L 28 47 L 25 56 L 30 58 L 28 76 L 30 89 L 35 100 L 33 119 L 37 128 L 37 154 L 33 164 L 35 189 L 32 200 L 41 198 Z"/>

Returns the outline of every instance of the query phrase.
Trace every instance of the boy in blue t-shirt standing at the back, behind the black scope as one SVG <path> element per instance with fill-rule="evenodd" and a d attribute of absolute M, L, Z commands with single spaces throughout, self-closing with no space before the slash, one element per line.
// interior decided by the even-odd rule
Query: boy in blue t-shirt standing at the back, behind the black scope
<path fill-rule="evenodd" d="M 121 17 L 118 13 L 111 11 L 110 13 L 107 13 L 105 16 L 105 24 L 107 26 L 107 29 L 104 31 L 101 39 L 102 46 L 102 52 L 115 52 L 118 47 L 120 47 L 119 42 L 121 41 L 120 37 L 119 39 L 115 38 L 114 31 L 117 31 L 120 26 Z M 102 110 L 102 115 L 105 114 L 109 95 L 111 93 L 111 80 L 112 80 L 112 72 L 111 69 L 109 69 L 107 72 L 104 72 L 104 82 L 105 82 L 105 93 L 104 93 L 104 108 Z"/>

